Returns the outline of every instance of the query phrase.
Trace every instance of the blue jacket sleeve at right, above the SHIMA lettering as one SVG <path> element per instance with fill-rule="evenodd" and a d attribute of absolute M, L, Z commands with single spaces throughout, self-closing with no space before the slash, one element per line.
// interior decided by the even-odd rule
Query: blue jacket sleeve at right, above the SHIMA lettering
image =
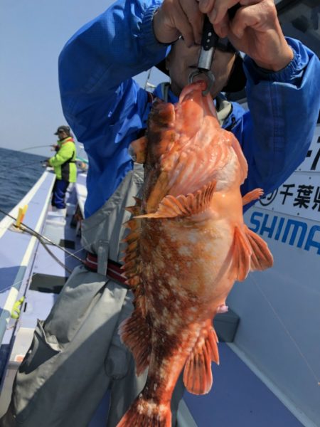
<path fill-rule="evenodd" d="M 247 102 L 242 149 L 249 172 L 242 194 L 262 187 L 265 194 L 282 184 L 301 164 L 311 144 L 320 107 L 320 63 L 302 43 L 287 38 L 294 51 L 277 73 L 245 58 Z"/>

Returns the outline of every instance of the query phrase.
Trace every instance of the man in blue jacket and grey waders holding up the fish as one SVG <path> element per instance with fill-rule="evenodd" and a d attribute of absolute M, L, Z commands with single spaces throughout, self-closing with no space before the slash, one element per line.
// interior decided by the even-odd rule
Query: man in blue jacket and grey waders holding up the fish
<path fill-rule="evenodd" d="M 107 426 L 114 427 L 142 389 L 145 375 L 134 374 L 117 334 L 132 311 L 131 292 L 119 275 L 122 224 L 129 218 L 124 207 L 143 182 L 128 147 L 146 129 L 151 108 L 150 95 L 132 76 L 166 58 L 171 84 L 154 94 L 176 102 L 198 61 L 203 14 L 233 46 L 218 46 L 211 94 L 221 125 L 235 134 L 247 158 L 242 194 L 256 187 L 267 194 L 303 161 L 319 112 L 319 60 L 299 41 L 284 38 L 273 1 L 242 0 L 230 21 L 228 9 L 237 3 L 119 0 L 63 49 L 63 111 L 90 162 L 82 226 L 87 265 L 75 269 L 47 320 L 39 322 L 2 426 L 86 427 L 110 387 Z M 240 78 L 236 51 L 247 54 L 248 112 L 220 95 Z M 180 381 L 173 423 L 182 393 Z"/>

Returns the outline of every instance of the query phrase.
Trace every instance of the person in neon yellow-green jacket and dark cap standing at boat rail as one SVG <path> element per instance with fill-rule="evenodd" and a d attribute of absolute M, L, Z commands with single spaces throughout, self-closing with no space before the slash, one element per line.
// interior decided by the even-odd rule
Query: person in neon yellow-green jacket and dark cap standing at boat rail
<path fill-rule="evenodd" d="M 77 180 L 75 164 L 77 152 L 69 126 L 59 126 L 55 135 L 59 138 L 57 144 L 53 146 L 55 155 L 50 157 L 46 164 L 53 167 L 56 175 L 51 204 L 53 209 L 65 216 L 65 193 L 70 182 Z"/>

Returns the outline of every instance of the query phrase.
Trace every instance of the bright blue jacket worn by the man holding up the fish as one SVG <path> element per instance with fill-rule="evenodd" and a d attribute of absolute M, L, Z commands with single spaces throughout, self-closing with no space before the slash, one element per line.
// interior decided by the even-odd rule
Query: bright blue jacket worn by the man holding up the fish
<path fill-rule="evenodd" d="M 89 158 L 85 216 L 99 209 L 132 169 L 127 147 L 146 127 L 150 102 L 132 76 L 159 63 L 152 16 L 159 0 L 119 0 L 83 26 L 63 48 L 59 82 L 66 120 Z M 233 103 L 232 125 L 247 158 L 242 194 L 277 188 L 304 160 L 320 105 L 319 59 L 288 39 L 294 59 L 269 73 L 245 58 L 250 112 Z M 171 102 L 176 98 L 171 94 Z"/>

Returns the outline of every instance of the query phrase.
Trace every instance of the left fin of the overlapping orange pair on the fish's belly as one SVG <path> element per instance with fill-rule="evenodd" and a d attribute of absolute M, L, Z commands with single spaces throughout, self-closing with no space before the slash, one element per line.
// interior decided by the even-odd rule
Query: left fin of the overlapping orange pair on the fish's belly
<path fill-rule="evenodd" d="M 231 254 L 232 263 L 230 275 L 232 275 L 235 280 L 245 280 L 250 271 L 252 248 L 245 236 L 245 233 L 243 233 L 238 226 L 235 227 Z"/>

